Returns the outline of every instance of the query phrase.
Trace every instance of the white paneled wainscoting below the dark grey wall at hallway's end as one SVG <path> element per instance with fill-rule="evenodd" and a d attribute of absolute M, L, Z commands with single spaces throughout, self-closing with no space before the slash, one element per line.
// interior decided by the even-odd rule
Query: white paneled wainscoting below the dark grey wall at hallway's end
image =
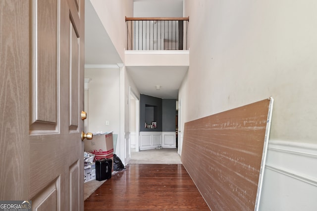
<path fill-rule="evenodd" d="M 140 150 L 176 148 L 176 132 L 140 132 Z"/>

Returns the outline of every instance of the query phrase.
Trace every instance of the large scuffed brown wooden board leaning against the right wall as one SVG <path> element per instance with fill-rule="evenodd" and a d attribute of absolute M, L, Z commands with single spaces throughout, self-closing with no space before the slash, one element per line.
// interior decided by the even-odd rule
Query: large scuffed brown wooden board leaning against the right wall
<path fill-rule="evenodd" d="M 254 211 L 269 102 L 185 123 L 181 160 L 212 211 Z"/>

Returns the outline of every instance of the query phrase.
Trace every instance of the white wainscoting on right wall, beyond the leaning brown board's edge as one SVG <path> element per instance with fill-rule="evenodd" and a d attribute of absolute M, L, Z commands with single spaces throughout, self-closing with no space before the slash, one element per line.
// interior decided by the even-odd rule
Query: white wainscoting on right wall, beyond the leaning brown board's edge
<path fill-rule="evenodd" d="M 317 145 L 269 141 L 260 211 L 317 211 Z"/>

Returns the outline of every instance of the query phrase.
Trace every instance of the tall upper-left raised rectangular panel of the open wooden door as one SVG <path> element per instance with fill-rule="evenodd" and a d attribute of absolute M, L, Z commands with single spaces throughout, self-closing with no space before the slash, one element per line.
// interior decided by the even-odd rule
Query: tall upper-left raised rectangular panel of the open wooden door
<path fill-rule="evenodd" d="M 56 128 L 57 0 L 33 0 L 31 130 Z"/>

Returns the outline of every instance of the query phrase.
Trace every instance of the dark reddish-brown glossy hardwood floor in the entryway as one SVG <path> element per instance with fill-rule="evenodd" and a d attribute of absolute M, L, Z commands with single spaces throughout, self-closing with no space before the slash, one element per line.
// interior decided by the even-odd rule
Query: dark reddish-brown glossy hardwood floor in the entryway
<path fill-rule="evenodd" d="M 86 201 L 85 211 L 210 211 L 181 164 L 130 164 Z"/>

